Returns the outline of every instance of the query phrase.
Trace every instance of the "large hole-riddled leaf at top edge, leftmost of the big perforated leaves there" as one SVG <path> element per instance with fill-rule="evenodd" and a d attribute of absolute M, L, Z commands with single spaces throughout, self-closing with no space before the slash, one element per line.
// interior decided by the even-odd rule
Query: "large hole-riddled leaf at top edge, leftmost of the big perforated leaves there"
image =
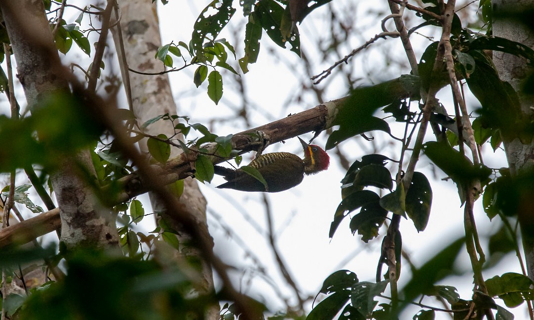
<path fill-rule="evenodd" d="M 208 12 L 215 12 L 208 14 Z M 208 4 L 200 13 L 193 26 L 191 35 L 191 46 L 195 56 L 203 59 L 205 41 L 215 41 L 221 30 L 232 18 L 235 9 L 232 7 L 232 0 L 214 0 Z"/>

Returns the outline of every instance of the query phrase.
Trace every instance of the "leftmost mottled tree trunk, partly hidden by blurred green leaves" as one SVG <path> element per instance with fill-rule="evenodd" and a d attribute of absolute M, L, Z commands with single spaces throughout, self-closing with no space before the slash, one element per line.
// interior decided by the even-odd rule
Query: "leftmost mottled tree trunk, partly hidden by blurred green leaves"
<path fill-rule="evenodd" d="M 68 91 L 68 71 L 61 66 L 43 2 L 1 1 L 0 9 L 30 110 L 54 92 Z M 59 169 L 50 176 L 60 208 L 61 241 L 67 247 L 116 247 L 119 237 L 114 218 L 108 209 L 98 206 L 95 194 L 77 174 L 80 167 L 96 177 L 88 150 L 58 159 Z"/>

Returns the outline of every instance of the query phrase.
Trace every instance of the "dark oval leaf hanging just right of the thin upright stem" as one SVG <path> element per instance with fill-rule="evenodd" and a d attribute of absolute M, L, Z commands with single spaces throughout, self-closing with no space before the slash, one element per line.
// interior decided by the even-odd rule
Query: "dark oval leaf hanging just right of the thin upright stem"
<path fill-rule="evenodd" d="M 415 171 L 412 183 L 406 194 L 406 213 L 413 221 L 417 231 L 423 231 L 427 227 L 432 206 L 432 188 L 427 177 Z"/>

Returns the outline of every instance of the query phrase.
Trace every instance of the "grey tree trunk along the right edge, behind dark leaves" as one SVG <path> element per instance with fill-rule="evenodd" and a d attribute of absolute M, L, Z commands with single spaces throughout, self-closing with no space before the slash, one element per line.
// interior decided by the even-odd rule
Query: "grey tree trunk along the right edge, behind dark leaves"
<path fill-rule="evenodd" d="M 493 0 L 493 15 L 497 17 L 493 21 L 493 35 L 507 38 L 534 49 L 534 33 L 532 29 L 522 25 L 516 19 L 502 18 L 511 13 L 523 13 L 526 9 L 533 9 L 531 0 Z M 493 52 L 493 63 L 497 67 L 501 80 L 509 82 L 512 87 L 519 92 L 521 100 L 521 111 L 523 116 L 532 118 L 534 107 L 534 98 L 522 94 L 522 81 L 528 76 L 529 69 L 524 58 L 518 58 L 512 54 Z M 532 168 L 534 159 L 534 140 L 530 143 L 522 142 L 519 138 L 511 141 L 504 141 L 506 157 L 512 175 L 517 175 L 522 168 Z M 525 190 L 527 193 L 532 190 Z M 528 196 L 525 195 L 525 196 Z M 530 194 L 529 197 L 531 197 Z M 524 198 L 524 197 L 523 197 Z M 523 237 L 523 248 L 525 260 L 527 261 L 528 274 L 534 279 L 534 207 L 532 198 L 521 198 L 529 206 L 519 206 L 517 212 L 521 224 L 521 233 Z"/>

